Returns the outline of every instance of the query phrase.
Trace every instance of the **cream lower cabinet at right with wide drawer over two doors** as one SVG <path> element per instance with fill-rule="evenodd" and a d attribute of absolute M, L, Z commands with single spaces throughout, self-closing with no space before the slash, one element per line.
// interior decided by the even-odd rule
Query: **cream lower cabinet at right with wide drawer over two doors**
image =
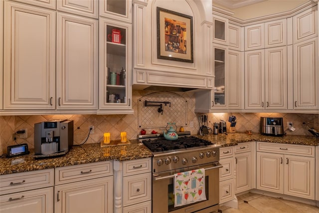
<path fill-rule="evenodd" d="M 256 168 L 257 189 L 315 199 L 315 147 L 257 142 Z"/>

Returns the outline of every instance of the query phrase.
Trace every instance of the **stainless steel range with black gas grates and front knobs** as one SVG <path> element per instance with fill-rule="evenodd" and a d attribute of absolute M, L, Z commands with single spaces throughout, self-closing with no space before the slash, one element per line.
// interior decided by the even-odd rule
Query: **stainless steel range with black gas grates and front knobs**
<path fill-rule="evenodd" d="M 220 145 L 180 132 L 178 139 L 166 140 L 163 135 L 140 135 L 153 153 L 152 213 L 211 213 L 219 208 Z M 174 174 L 205 170 L 206 201 L 174 207 Z"/>

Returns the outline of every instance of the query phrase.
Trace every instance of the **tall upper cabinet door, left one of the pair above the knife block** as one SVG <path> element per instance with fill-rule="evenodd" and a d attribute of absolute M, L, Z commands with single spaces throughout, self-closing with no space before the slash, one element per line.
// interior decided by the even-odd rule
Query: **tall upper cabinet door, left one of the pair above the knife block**
<path fill-rule="evenodd" d="M 245 52 L 245 109 L 264 109 L 264 50 Z"/>

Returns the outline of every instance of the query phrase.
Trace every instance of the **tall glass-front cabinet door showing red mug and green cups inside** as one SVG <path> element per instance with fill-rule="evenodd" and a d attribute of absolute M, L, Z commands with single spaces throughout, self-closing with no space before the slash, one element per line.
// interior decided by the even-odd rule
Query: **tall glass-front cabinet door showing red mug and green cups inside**
<path fill-rule="evenodd" d="M 100 18 L 99 109 L 132 111 L 132 25 Z M 103 112 L 102 112 L 103 113 Z"/>

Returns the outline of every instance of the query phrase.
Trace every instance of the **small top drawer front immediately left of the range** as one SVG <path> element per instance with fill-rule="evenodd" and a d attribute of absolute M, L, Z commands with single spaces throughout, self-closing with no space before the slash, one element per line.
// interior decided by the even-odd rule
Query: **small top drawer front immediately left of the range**
<path fill-rule="evenodd" d="M 123 162 L 123 176 L 152 172 L 151 158 Z"/>

